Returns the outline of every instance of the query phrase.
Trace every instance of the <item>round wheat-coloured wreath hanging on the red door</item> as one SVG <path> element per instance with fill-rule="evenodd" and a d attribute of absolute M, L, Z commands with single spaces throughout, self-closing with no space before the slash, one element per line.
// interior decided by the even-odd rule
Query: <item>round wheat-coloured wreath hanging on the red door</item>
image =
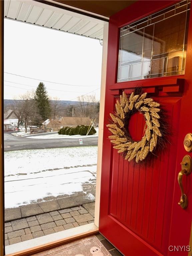
<path fill-rule="evenodd" d="M 113 148 L 118 149 L 118 153 L 123 153 L 128 161 L 134 158 L 137 163 L 143 161 L 158 146 L 165 146 L 167 125 L 166 121 L 162 122 L 163 111 L 159 107 L 160 104 L 147 98 L 147 93 L 143 93 L 141 88 L 136 88 L 129 98 L 123 92 L 120 101 L 117 100 L 116 112 L 110 113 L 112 120 L 107 125 L 113 134 L 109 139 L 115 145 Z M 144 115 L 146 121 L 145 132 L 140 141 L 134 141 L 128 131 L 130 116 L 137 111 Z"/>

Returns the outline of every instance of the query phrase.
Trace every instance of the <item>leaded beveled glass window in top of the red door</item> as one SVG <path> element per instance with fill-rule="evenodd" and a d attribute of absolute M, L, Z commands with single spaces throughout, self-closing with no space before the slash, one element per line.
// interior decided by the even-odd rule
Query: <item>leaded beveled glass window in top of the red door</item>
<path fill-rule="evenodd" d="M 190 1 L 120 30 L 117 82 L 184 74 Z"/>

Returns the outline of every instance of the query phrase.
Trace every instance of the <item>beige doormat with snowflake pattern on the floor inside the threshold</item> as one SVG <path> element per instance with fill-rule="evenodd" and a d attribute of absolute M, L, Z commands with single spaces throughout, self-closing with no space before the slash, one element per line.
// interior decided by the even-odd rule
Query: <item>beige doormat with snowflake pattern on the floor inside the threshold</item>
<path fill-rule="evenodd" d="M 86 237 L 34 256 L 111 256 L 96 236 Z"/>

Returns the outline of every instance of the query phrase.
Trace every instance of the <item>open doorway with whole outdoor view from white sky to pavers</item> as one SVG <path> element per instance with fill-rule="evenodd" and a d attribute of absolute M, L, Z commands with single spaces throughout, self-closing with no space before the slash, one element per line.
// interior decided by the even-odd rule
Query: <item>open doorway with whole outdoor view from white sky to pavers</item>
<path fill-rule="evenodd" d="M 4 30 L 5 246 L 13 248 L 94 222 L 102 40 L 9 19 Z M 44 118 L 38 100 L 50 108 Z"/>

